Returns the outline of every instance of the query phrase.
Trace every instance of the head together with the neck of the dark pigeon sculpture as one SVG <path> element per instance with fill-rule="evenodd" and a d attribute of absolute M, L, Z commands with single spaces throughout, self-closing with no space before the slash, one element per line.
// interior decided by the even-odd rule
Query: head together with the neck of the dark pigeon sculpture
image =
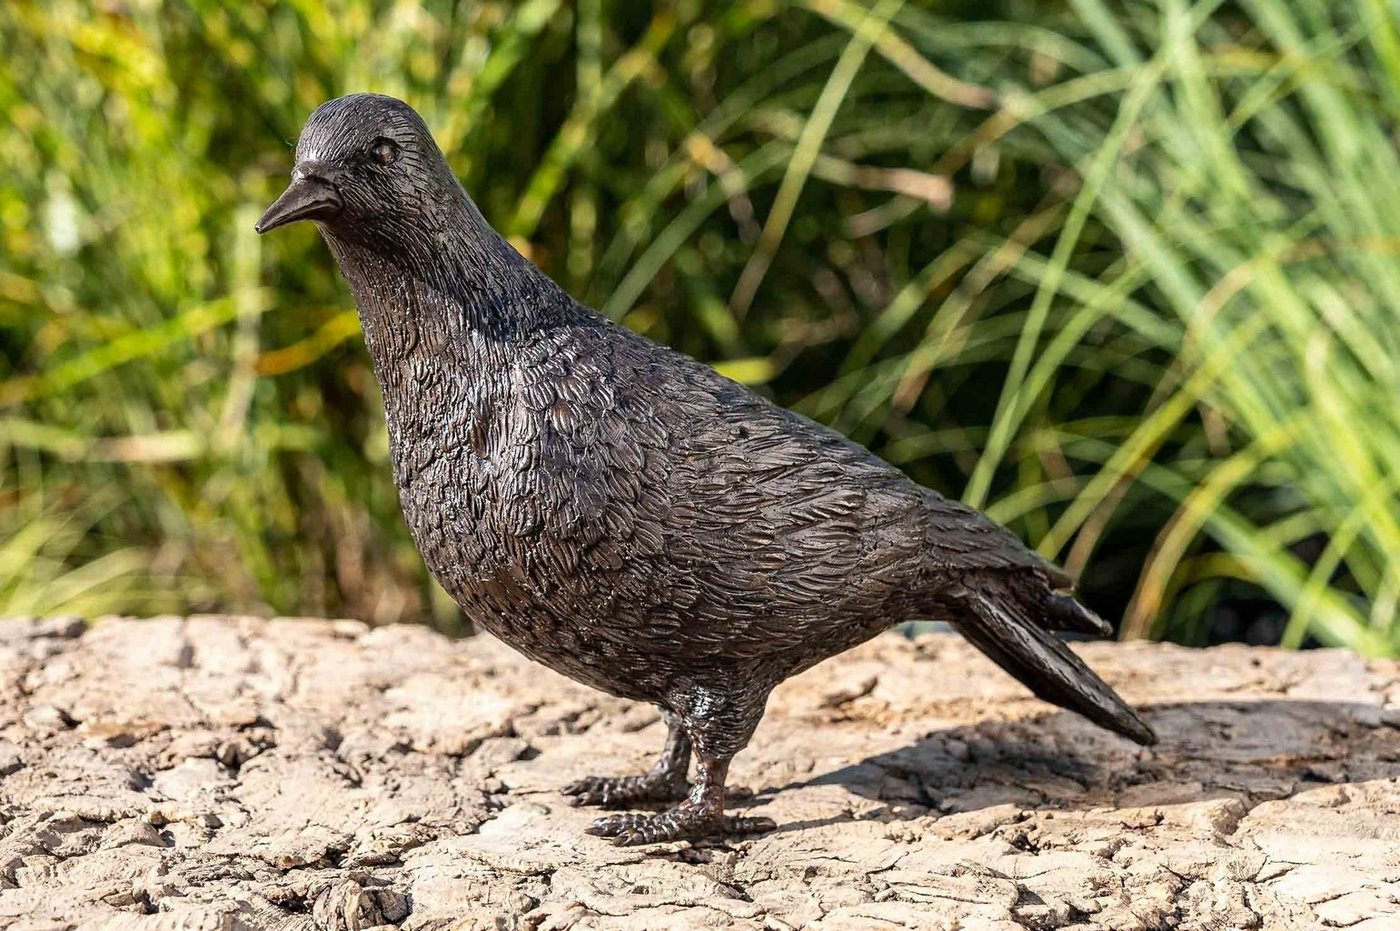
<path fill-rule="evenodd" d="M 392 97 L 351 94 L 311 115 L 291 183 L 255 228 L 298 220 L 330 246 L 385 360 L 433 328 L 510 333 L 582 312 L 490 227 L 423 118 Z"/>

